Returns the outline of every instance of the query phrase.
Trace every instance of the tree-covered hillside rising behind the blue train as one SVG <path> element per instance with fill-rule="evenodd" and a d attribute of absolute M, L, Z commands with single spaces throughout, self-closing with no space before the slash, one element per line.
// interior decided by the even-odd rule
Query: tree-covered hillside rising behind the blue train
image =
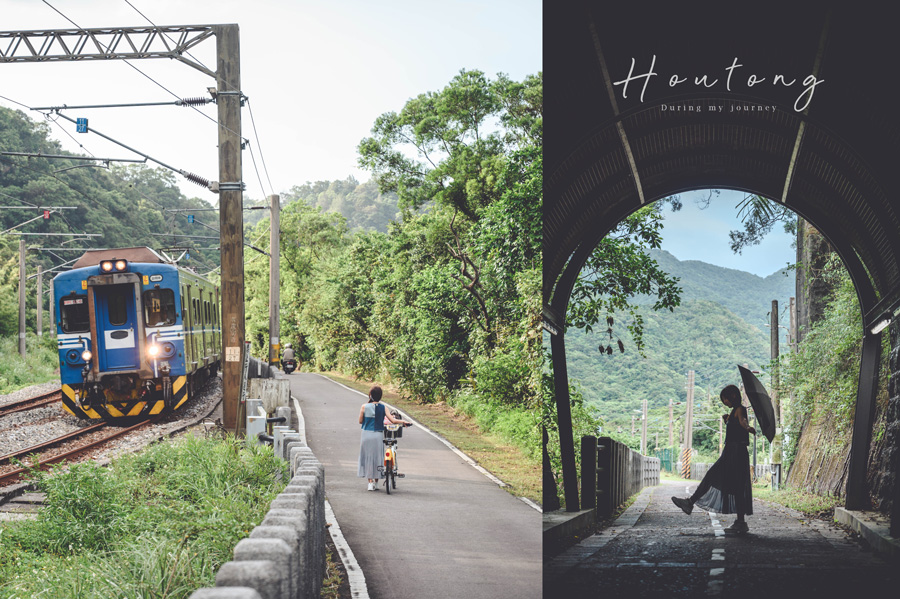
<path fill-rule="evenodd" d="M 49 137 L 43 123 L 28 119 L 22 112 L 0 108 L 0 150 L 63 154 L 59 144 Z M 71 168 L 81 165 L 82 168 Z M 82 162 L 0 156 L 0 204 L 32 207 L 28 210 L 0 209 L 0 337 L 18 331 L 18 241 L 15 232 L 25 233 L 93 233 L 100 237 L 26 237 L 28 275 L 40 264 L 44 276 L 44 293 L 49 289 L 50 269 L 80 255 L 79 251 L 52 250 L 43 247 L 133 247 L 147 245 L 162 249 L 172 246 L 193 248 L 190 259 L 181 265 L 206 273 L 218 264 L 216 243 L 210 240 L 184 240 L 155 236 L 155 233 L 178 235 L 216 235 L 218 223 L 213 213 L 197 213 L 195 223 L 188 223 L 187 213 L 165 212 L 165 209 L 209 208 L 197 198 L 186 198 L 176 186 L 175 175 L 162 169 L 143 166 L 112 167 L 109 170 L 83 168 Z M 68 170 L 65 170 L 68 169 Z M 199 189 L 199 188 L 198 188 Z M 49 219 L 40 218 L 38 206 L 74 206 L 75 210 L 52 212 Z M 32 220 L 35 219 L 36 220 Z M 28 222 L 26 221 L 32 221 Z M 209 228 L 201 222 L 210 223 Z M 22 225 L 22 226 L 19 226 Z M 180 252 L 178 252 L 180 253 Z M 177 257 L 178 253 L 175 254 Z M 26 285 L 26 328 L 36 327 L 36 278 Z M 46 298 L 44 299 L 46 306 Z M 44 326 L 49 312 L 45 311 Z"/>

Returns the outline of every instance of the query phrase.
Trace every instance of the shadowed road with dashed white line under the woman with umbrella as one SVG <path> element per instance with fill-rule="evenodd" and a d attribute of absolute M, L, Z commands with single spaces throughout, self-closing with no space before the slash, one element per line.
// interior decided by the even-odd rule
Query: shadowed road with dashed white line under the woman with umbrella
<path fill-rule="evenodd" d="M 545 564 L 544 597 L 863 599 L 900 588 L 896 567 L 837 526 L 755 500 L 750 533 L 732 535 L 733 515 L 688 516 L 672 495 L 687 496 L 685 483 L 645 489 L 610 528 Z"/>

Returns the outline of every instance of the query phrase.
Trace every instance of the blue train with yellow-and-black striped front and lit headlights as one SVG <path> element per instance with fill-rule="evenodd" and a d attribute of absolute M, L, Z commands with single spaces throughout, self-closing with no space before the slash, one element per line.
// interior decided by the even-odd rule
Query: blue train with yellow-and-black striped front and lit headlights
<path fill-rule="evenodd" d="M 219 368 L 219 288 L 150 248 L 88 251 L 53 295 L 63 408 L 75 416 L 177 410 Z"/>

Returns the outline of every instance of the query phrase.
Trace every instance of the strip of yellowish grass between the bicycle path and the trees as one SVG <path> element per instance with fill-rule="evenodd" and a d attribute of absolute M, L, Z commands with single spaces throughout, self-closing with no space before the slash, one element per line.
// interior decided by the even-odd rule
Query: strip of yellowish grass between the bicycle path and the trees
<path fill-rule="evenodd" d="M 372 386 L 371 383 L 360 382 L 341 373 L 323 374 L 363 393 L 368 393 Z M 384 390 L 384 400 L 447 439 L 482 468 L 509 485 L 506 490 L 511 494 L 527 497 L 538 505 L 541 504 L 541 465 L 521 448 L 498 435 L 485 433 L 471 417 L 461 414 L 446 403 L 418 403 L 404 399 L 388 389 Z"/>

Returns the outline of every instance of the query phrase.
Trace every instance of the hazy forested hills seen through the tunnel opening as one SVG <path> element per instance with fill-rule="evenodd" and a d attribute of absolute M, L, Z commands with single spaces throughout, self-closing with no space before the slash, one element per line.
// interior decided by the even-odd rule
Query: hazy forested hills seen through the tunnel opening
<path fill-rule="evenodd" d="M 737 364 L 761 369 L 769 362 L 766 315 L 773 299 L 783 313 L 794 295 L 790 270 L 763 278 L 705 262 L 680 261 L 664 251 L 653 251 L 652 256 L 681 279 L 683 292 L 682 304 L 674 312 L 653 312 L 649 306 L 642 310 L 646 357 L 630 339 L 623 339 L 624 354 L 615 350 L 606 355 L 597 349 L 609 342 L 603 332 L 570 331 L 566 336 L 570 378 L 581 386 L 585 401 L 599 409 L 607 426 L 626 430 L 644 398 L 651 413 L 655 409 L 657 421 L 667 421 L 669 399 L 684 401 L 685 374 L 691 369 L 698 373 L 696 393 L 705 399 L 709 390 L 716 409 L 718 390 L 739 382 Z M 782 324 L 788 324 L 786 316 Z"/>

